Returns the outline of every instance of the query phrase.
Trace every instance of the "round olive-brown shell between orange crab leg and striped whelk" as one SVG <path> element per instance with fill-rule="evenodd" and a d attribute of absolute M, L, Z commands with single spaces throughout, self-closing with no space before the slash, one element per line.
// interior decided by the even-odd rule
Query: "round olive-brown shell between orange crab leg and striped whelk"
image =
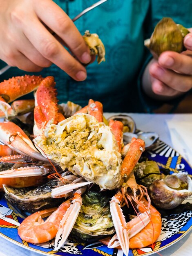
<path fill-rule="evenodd" d="M 143 186 L 149 186 L 154 180 L 161 180 L 162 174 L 155 161 L 137 163 L 134 167 L 136 182 Z"/>

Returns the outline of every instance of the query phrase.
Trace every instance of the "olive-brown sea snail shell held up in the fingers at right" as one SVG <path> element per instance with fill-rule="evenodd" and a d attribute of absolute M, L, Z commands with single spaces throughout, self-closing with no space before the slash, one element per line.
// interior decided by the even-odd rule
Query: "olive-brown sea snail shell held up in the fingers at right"
<path fill-rule="evenodd" d="M 156 25 L 150 39 L 144 44 L 157 56 L 165 51 L 183 52 L 183 38 L 189 33 L 188 29 L 176 24 L 171 18 L 163 18 Z"/>

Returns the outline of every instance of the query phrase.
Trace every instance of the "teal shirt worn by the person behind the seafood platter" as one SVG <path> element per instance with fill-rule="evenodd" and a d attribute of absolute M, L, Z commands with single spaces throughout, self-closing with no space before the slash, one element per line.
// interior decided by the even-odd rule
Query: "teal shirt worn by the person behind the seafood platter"
<path fill-rule="evenodd" d="M 54 2 L 74 18 L 96 0 Z M 109 0 L 75 22 L 81 34 L 89 30 L 99 35 L 105 45 L 106 61 L 87 66 L 83 82 L 74 81 L 56 65 L 38 74 L 55 77 L 60 102 L 70 100 L 85 106 L 94 99 L 103 103 L 104 111 L 152 112 L 161 103 L 147 98 L 141 90 L 141 74 L 150 58 L 143 42 L 163 16 L 192 27 L 191 10 L 189 0 Z M 11 68 L 0 80 L 26 73 Z"/>

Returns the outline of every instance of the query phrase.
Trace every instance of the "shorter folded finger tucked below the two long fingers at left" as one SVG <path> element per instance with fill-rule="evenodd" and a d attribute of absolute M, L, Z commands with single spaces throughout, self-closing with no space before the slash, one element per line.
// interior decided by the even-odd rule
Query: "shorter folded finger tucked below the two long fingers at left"
<path fill-rule="evenodd" d="M 19 43 L 16 42 L 16 48 L 19 52 L 25 55 L 32 63 L 39 67 L 50 67 L 52 62 L 47 60 L 40 54 L 37 49 L 29 42 L 26 36 L 20 35 Z"/>

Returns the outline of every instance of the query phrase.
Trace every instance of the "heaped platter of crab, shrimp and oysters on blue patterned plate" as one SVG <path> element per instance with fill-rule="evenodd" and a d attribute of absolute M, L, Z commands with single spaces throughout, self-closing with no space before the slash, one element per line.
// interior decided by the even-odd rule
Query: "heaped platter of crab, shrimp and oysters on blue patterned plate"
<path fill-rule="evenodd" d="M 191 167 L 131 117 L 58 104 L 54 77 L 26 75 L 0 83 L 0 118 L 4 238 L 45 255 L 132 256 L 190 231 Z"/>

